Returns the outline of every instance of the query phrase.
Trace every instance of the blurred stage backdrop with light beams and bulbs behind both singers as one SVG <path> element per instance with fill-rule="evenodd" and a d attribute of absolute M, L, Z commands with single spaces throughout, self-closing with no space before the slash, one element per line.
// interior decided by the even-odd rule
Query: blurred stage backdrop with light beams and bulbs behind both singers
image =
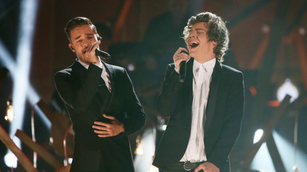
<path fill-rule="evenodd" d="M 150 165 L 168 121 L 157 113 L 157 96 L 166 65 L 185 47 L 180 37 L 188 18 L 202 11 L 227 21 L 223 64 L 244 75 L 244 118 L 231 170 L 306 172 L 306 0 L 1 0 L 2 141 L 12 146 L 14 140 L 38 171 L 66 171 L 73 136 L 53 75 L 76 58 L 64 27 L 83 16 L 103 37 L 100 48 L 112 55 L 106 62 L 128 71 L 147 114 L 146 126 L 130 136 L 136 171 L 157 171 Z M 3 142 L 0 170 L 25 171 Z"/>

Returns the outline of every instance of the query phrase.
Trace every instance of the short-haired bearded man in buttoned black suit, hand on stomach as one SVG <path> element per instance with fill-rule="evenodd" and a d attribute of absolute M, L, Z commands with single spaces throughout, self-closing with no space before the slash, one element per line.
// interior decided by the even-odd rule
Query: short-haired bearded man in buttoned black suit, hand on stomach
<path fill-rule="evenodd" d="M 65 32 L 77 59 L 54 82 L 75 133 L 70 171 L 134 172 L 128 135 L 142 129 L 146 114 L 131 80 L 95 54 L 100 40 L 89 19 L 72 19 Z"/>

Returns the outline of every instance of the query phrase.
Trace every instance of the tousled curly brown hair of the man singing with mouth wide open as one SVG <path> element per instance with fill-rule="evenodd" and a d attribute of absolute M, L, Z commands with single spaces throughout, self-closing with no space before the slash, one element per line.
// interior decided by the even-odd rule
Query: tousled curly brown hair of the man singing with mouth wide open
<path fill-rule="evenodd" d="M 223 62 L 223 55 L 228 50 L 229 43 L 229 32 L 226 28 L 225 22 L 223 22 L 222 18 L 216 14 L 210 12 L 198 13 L 188 20 L 188 24 L 184 28 L 183 38 L 185 39 L 185 42 L 188 39 L 189 31 L 193 24 L 199 22 L 206 22 L 206 27 L 208 28 L 208 41 L 214 41 L 217 43 L 217 45 L 213 48 L 213 52 L 215 53 L 216 59 L 219 62 Z"/>

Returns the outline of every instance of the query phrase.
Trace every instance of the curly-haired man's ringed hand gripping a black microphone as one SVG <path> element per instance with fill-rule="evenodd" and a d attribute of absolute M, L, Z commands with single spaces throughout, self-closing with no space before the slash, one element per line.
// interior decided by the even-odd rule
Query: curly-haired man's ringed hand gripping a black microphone
<path fill-rule="evenodd" d="M 185 80 L 185 66 L 189 58 L 188 50 L 185 48 L 179 48 L 173 56 L 175 67 L 179 70 L 180 82 L 184 82 Z"/>

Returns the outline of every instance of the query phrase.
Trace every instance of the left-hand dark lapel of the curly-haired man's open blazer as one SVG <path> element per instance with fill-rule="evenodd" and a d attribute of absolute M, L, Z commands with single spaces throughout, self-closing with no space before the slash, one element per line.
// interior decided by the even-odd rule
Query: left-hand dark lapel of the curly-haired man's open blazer
<path fill-rule="evenodd" d="M 194 58 L 190 58 L 186 63 L 185 81 L 183 82 L 183 99 L 185 101 L 185 114 L 187 116 L 187 122 L 190 127 L 192 122 L 193 62 Z"/>

